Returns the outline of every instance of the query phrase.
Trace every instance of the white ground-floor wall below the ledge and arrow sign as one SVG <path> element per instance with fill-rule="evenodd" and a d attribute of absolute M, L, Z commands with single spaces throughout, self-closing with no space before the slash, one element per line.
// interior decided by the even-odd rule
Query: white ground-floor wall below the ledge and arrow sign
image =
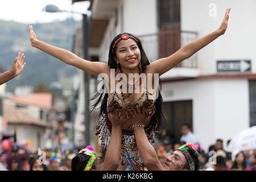
<path fill-rule="evenodd" d="M 249 127 L 247 80 L 164 82 L 162 90 L 164 102 L 192 100 L 193 133 L 205 151 L 217 138 L 224 139 L 225 144 Z M 167 95 L 170 92 L 172 96 Z"/>

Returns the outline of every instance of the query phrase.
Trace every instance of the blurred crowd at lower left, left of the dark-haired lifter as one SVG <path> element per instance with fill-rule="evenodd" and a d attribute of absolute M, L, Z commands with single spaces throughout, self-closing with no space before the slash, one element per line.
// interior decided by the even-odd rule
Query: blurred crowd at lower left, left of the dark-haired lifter
<path fill-rule="evenodd" d="M 71 171 L 76 153 L 63 148 L 35 151 L 31 142 L 16 143 L 9 138 L 1 141 L 0 171 Z"/>

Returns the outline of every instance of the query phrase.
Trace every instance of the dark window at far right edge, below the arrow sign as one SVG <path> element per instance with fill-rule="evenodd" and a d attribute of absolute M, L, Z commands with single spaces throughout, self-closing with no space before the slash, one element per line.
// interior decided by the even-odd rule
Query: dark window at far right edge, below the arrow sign
<path fill-rule="evenodd" d="M 249 80 L 250 127 L 256 126 L 256 80 Z"/>

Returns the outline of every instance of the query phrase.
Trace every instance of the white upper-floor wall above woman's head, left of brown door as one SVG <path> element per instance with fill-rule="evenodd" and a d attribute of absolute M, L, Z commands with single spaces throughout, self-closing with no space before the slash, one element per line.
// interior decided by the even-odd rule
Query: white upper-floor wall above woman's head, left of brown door
<path fill-rule="evenodd" d="M 158 32 L 156 0 L 122 1 L 118 6 L 117 26 L 115 26 L 115 16 L 109 19 L 100 46 L 100 61 L 108 63 L 110 43 L 115 36 L 123 32 L 137 36 Z"/>

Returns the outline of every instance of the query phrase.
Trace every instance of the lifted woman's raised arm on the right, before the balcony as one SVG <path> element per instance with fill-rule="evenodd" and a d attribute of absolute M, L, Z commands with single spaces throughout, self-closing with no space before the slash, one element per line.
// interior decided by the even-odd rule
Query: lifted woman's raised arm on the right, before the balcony
<path fill-rule="evenodd" d="M 201 48 L 207 46 L 209 43 L 213 42 L 213 40 L 223 35 L 226 31 L 226 28 L 228 27 L 230 10 L 230 7 L 226 10 L 226 14 L 224 19 L 222 20 L 221 26 L 216 31 L 204 36 L 203 38 L 193 40 L 191 43 L 188 43 L 185 46 L 181 47 L 171 56 L 159 59 L 154 63 L 148 65 L 149 72 L 159 73 L 159 76 L 163 75 L 163 73 L 166 73 L 171 68 L 175 67 L 175 65 L 179 64 L 185 59 L 188 59 L 188 57 L 191 57 Z"/>

